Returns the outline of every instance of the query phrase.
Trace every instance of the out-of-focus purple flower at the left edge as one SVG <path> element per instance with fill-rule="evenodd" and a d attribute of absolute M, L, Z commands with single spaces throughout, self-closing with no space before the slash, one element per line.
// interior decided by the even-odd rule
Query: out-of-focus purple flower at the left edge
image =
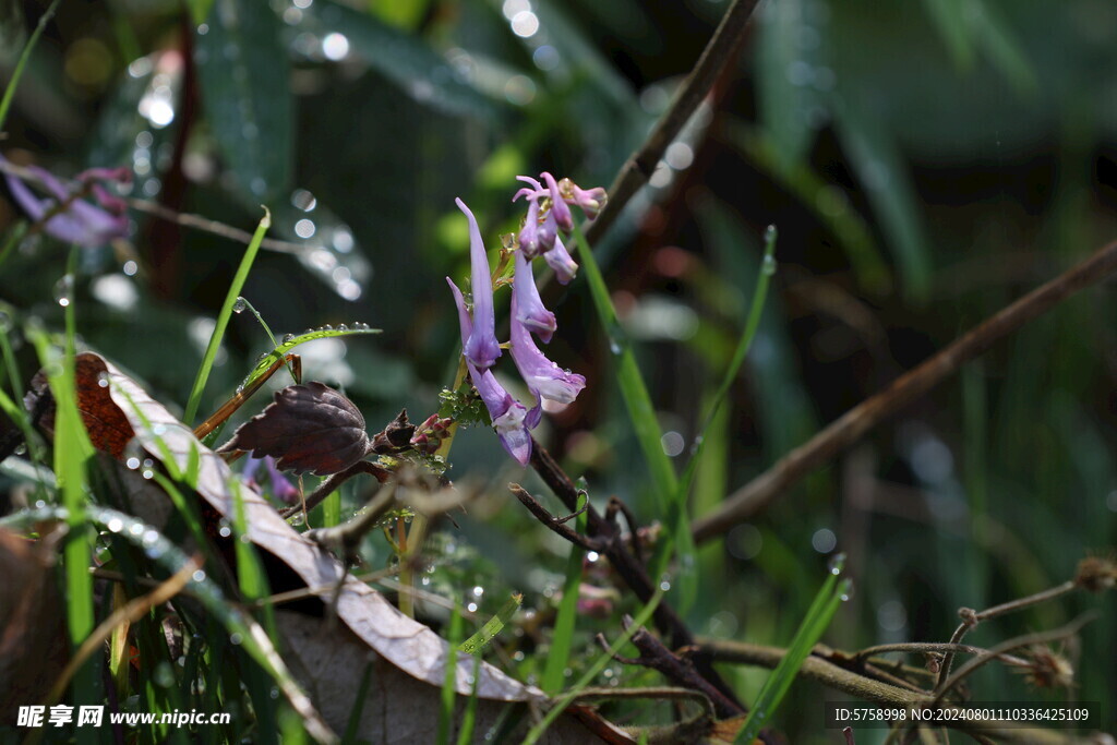
<path fill-rule="evenodd" d="M 7 163 L 0 157 L 0 163 Z M 128 218 L 123 200 L 113 197 L 105 189 L 107 183 L 128 183 L 132 172 L 127 169 L 92 169 L 78 174 L 77 180 L 88 189 L 97 201 L 92 204 L 78 199 L 80 190 L 67 188 L 52 173 L 31 165 L 26 171 L 35 176 L 54 199 L 42 199 L 35 194 L 23 179 L 4 173 L 12 199 L 36 222 L 42 223 L 47 235 L 86 248 L 104 246 L 128 233 Z"/>

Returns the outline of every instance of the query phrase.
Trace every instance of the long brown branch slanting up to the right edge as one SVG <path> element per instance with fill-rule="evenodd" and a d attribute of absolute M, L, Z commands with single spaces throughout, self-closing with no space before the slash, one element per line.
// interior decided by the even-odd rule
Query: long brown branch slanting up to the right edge
<path fill-rule="evenodd" d="M 729 495 L 712 514 L 695 520 L 695 541 L 703 542 L 722 535 L 741 520 L 757 514 L 804 476 L 857 442 L 886 417 L 918 399 L 953 374 L 963 363 L 983 353 L 1032 318 L 1050 311 L 1067 297 L 1097 284 L 1115 269 L 1117 269 L 1117 241 L 1102 247 L 1085 261 L 994 314 L 952 342 L 942 352 L 898 378 L 880 393 L 866 399 L 831 422 L 808 442 L 781 458 L 768 470 Z"/>

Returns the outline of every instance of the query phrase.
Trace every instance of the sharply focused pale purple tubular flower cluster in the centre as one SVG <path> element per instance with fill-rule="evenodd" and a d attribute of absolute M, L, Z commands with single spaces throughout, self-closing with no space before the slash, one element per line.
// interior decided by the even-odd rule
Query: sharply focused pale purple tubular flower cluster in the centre
<path fill-rule="evenodd" d="M 521 465 L 526 465 L 532 457 L 529 430 L 540 423 L 543 399 L 571 403 L 585 388 L 584 376 L 563 370 L 548 360 L 532 337 L 534 334 L 540 341 L 547 343 L 556 328 L 555 315 L 543 306 L 540 290 L 535 286 L 532 260 L 543 257 L 562 284 L 573 279 L 577 264 L 571 258 L 560 237 L 560 232 L 569 232 L 574 226 L 570 207 L 580 207 L 592 219 L 605 203 L 604 189 L 582 190 L 570 179 L 555 181 L 550 173 L 542 173 L 540 178 L 546 185 L 529 176 L 519 176 L 531 188 L 521 189 L 513 198 L 513 201 L 522 197 L 527 200 L 527 214 L 517 237 L 518 248 L 514 250 L 508 347 L 516 369 L 535 397 L 532 409 L 515 400 L 493 374 L 491 367 L 502 354 L 500 343 L 496 338 L 493 278 L 477 219 L 460 199 L 456 200 L 458 209 L 469 220 L 471 313 L 461 290 L 454 280 L 446 278 L 458 305 L 461 350 L 469 379 L 488 409 L 500 445 Z"/>

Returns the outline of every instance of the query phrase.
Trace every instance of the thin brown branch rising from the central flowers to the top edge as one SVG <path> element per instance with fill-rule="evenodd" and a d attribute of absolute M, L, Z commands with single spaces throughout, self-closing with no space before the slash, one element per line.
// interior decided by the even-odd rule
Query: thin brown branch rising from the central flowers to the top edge
<path fill-rule="evenodd" d="M 736 52 L 745 39 L 748 19 L 757 2 L 758 0 L 734 0 L 725 12 L 671 106 L 613 179 L 613 183 L 609 187 L 609 201 L 585 231 L 585 239 L 591 246 L 605 235 L 637 191 L 648 182 L 656 165 L 663 157 L 667 146 L 679 135 L 722 71 L 736 59 Z"/>

